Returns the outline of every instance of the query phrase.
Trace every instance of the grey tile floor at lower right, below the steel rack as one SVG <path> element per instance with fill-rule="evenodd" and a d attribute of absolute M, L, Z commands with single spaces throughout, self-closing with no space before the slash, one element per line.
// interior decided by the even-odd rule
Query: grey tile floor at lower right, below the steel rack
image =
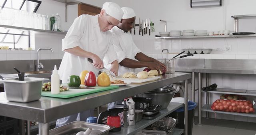
<path fill-rule="evenodd" d="M 256 123 L 251 122 L 202 118 L 202 126 L 198 126 L 195 117 L 195 123 L 192 135 L 256 135 Z"/>

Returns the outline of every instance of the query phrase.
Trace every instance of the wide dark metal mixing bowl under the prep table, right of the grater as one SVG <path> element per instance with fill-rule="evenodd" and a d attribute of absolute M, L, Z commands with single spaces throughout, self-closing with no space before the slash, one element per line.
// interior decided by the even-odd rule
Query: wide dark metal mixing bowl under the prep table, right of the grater
<path fill-rule="evenodd" d="M 137 97 L 149 97 L 152 99 L 152 104 L 154 105 L 162 105 L 161 109 L 166 109 L 167 106 L 169 105 L 170 101 L 172 100 L 172 97 L 174 96 L 175 93 L 177 93 L 179 90 L 173 89 L 168 92 L 163 92 L 159 93 L 159 90 L 157 93 L 154 93 L 152 91 L 147 92 L 147 93 L 140 93 L 136 95 Z"/>

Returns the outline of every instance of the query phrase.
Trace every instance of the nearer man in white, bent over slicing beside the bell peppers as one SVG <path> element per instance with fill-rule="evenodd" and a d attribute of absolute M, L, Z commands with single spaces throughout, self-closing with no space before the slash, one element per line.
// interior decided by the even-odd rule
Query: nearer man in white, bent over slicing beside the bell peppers
<path fill-rule="evenodd" d="M 59 68 L 62 83 L 67 83 L 68 76 L 79 75 L 83 70 L 94 71 L 98 75 L 98 70 L 103 67 L 102 60 L 105 55 L 108 55 L 106 63 L 111 64 L 110 70 L 117 74 L 118 58 L 112 44 L 112 34 L 108 30 L 116 26 L 122 16 L 120 6 L 106 2 L 100 14 L 81 15 L 74 20 L 62 40 L 62 51 L 65 52 Z M 93 64 L 88 62 L 87 58 L 91 58 Z M 74 106 L 76 107 L 79 106 Z M 58 119 L 56 127 L 76 120 L 86 121 L 90 116 L 93 116 L 93 109 Z"/>

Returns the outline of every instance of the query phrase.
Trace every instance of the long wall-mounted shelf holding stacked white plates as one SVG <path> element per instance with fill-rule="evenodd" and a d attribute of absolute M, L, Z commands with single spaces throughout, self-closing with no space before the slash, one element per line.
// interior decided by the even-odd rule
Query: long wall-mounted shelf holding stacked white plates
<path fill-rule="evenodd" d="M 254 35 L 218 35 L 218 36 L 167 36 L 167 37 L 156 36 L 155 39 L 182 39 L 182 38 L 246 38 L 246 37 L 256 37 L 256 34 L 254 34 Z"/>

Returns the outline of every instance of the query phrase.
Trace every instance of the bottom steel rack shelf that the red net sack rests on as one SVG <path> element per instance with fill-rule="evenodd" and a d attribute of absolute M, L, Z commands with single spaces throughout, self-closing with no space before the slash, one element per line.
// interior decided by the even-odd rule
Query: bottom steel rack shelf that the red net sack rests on
<path fill-rule="evenodd" d="M 226 111 L 213 111 L 211 109 L 211 106 L 212 105 L 204 105 L 202 107 L 202 111 L 215 112 L 215 113 L 223 113 L 223 114 L 231 114 L 231 115 L 239 115 L 239 116 L 245 116 L 245 117 L 256 117 L 256 113 L 234 113 L 234 112 L 226 112 Z"/>

